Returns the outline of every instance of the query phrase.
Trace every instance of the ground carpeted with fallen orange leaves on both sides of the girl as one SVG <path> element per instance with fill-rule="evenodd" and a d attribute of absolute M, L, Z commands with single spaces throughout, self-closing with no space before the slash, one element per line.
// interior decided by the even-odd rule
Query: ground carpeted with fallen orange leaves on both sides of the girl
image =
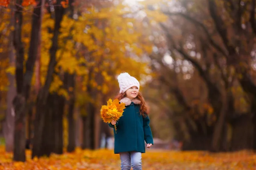
<path fill-rule="evenodd" d="M 119 155 L 113 150 L 81 150 L 50 158 L 13 162 L 12 153 L 0 147 L 0 170 L 118 170 Z M 201 151 L 179 152 L 147 150 L 143 154 L 144 170 L 256 170 L 256 154 L 248 151 L 234 153 L 207 153 Z"/>

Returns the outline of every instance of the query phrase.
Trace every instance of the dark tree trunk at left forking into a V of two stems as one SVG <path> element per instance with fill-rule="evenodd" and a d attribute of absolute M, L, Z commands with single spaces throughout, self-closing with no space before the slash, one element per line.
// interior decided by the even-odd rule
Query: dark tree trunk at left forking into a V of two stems
<path fill-rule="evenodd" d="M 15 105 L 15 137 L 14 137 L 14 161 L 25 161 L 25 120 L 26 120 L 26 101 L 29 98 L 29 91 L 31 85 L 31 79 L 34 71 L 35 56 L 38 46 L 38 29 L 41 27 L 41 23 L 38 22 L 41 17 L 41 1 L 38 1 L 38 5 L 35 7 L 32 17 L 32 30 L 29 47 L 29 57 L 26 62 L 26 73 L 23 76 L 23 61 L 24 61 L 24 49 L 21 42 L 21 26 L 22 26 L 22 1 L 17 1 L 15 11 L 15 31 L 14 31 L 14 45 L 16 50 L 16 83 L 17 83 L 17 96 L 13 103 Z"/>

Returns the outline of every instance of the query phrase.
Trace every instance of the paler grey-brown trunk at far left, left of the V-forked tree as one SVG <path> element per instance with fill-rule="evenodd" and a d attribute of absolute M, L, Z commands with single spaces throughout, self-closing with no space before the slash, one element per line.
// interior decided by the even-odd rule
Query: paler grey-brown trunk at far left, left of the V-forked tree
<path fill-rule="evenodd" d="M 12 15 L 11 21 L 12 25 L 14 24 L 14 17 Z M 10 51 L 9 51 L 9 62 L 11 66 L 15 66 L 15 54 L 13 46 L 13 34 L 10 34 Z M 15 76 L 8 73 L 9 87 L 7 92 L 7 112 L 5 122 L 3 124 L 3 133 L 6 140 L 6 152 L 13 151 L 13 142 L 14 142 L 14 120 L 15 120 L 15 111 L 13 108 L 12 101 L 16 96 L 15 89 Z"/>

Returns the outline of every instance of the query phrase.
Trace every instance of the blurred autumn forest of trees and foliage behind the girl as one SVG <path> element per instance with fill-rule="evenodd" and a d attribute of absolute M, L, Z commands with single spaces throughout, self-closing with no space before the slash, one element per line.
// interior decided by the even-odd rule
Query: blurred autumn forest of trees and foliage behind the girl
<path fill-rule="evenodd" d="M 0 5 L 0 136 L 15 161 L 26 142 L 32 157 L 102 147 L 122 72 L 140 80 L 155 139 L 256 150 L 255 0 Z"/>

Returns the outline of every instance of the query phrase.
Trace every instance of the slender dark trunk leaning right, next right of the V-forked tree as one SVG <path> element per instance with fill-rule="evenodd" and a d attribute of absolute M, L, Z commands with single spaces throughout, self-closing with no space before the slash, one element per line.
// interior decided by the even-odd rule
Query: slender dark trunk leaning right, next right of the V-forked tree
<path fill-rule="evenodd" d="M 57 5 L 55 6 L 55 26 L 53 31 L 52 38 L 52 47 L 50 48 L 50 61 L 47 71 L 47 77 L 44 84 L 44 87 L 41 88 L 41 91 L 38 94 L 37 99 L 37 108 L 35 115 L 35 137 L 33 140 L 33 150 L 32 150 L 32 158 L 35 156 L 41 156 L 42 148 L 42 138 L 43 138 L 43 127 L 45 112 L 47 107 L 47 98 L 49 96 L 49 88 L 52 83 L 53 73 L 56 65 L 56 51 L 58 49 L 58 35 L 59 29 L 61 27 L 61 21 L 64 15 L 64 8 L 61 6 L 61 0 L 57 0 Z M 63 107 L 63 106 L 62 106 Z M 62 122 L 61 122 L 62 125 Z M 61 148 L 62 150 L 62 148 Z"/>

